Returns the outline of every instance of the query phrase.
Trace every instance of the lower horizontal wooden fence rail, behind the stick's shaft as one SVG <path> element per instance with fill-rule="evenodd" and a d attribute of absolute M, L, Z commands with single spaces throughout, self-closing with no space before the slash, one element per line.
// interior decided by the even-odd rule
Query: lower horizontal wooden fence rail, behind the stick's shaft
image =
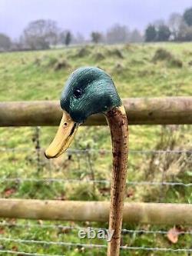
<path fill-rule="evenodd" d="M 0 218 L 108 221 L 107 201 L 0 199 Z M 124 222 L 192 224 L 192 204 L 125 203 Z"/>

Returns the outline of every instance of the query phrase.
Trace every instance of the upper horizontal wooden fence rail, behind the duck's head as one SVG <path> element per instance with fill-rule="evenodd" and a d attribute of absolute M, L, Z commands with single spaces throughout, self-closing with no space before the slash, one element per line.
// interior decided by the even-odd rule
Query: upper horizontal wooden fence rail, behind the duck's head
<path fill-rule="evenodd" d="M 125 98 L 130 125 L 192 124 L 192 97 Z M 0 126 L 52 126 L 61 120 L 58 101 L 0 102 Z M 84 125 L 107 125 L 92 115 Z"/>

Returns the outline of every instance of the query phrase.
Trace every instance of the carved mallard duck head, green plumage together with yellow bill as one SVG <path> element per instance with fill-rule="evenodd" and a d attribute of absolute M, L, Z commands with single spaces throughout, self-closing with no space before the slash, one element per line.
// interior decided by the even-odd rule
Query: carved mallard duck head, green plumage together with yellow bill
<path fill-rule="evenodd" d="M 105 113 L 121 106 L 121 98 L 111 77 L 100 68 L 85 67 L 74 71 L 61 93 L 63 117 L 58 133 L 45 155 L 55 158 L 71 144 L 79 125 L 90 115 Z"/>

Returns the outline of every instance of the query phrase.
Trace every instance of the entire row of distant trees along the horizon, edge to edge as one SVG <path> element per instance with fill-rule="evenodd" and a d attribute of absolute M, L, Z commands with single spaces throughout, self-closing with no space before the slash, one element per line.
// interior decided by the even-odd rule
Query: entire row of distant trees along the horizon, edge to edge
<path fill-rule="evenodd" d="M 90 38 L 74 35 L 68 29 L 58 28 L 52 20 L 40 19 L 30 22 L 16 42 L 8 35 L 0 33 L 0 52 L 41 50 L 60 45 L 83 45 L 89 43 L 121 44 L 130 42 L 191 42 L 192 8 L 184 14 L 173 13 L 167 21 L 157 20 L 147 26 L 144 33 L 137 28 L 131 30 L 127 25 L 115 24 L 107 32 L 93 31 Z"/>

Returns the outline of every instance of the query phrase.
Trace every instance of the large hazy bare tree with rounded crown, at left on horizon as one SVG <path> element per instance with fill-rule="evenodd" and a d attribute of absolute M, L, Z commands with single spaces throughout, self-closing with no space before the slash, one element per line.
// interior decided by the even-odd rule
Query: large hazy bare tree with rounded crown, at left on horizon
<path fill-rule="evenodd" d="M 58 26 L 51 20 L 30 22 L 24 30 L 25 45 L 32 50 L 50 48 L 58 42 Z"/>

